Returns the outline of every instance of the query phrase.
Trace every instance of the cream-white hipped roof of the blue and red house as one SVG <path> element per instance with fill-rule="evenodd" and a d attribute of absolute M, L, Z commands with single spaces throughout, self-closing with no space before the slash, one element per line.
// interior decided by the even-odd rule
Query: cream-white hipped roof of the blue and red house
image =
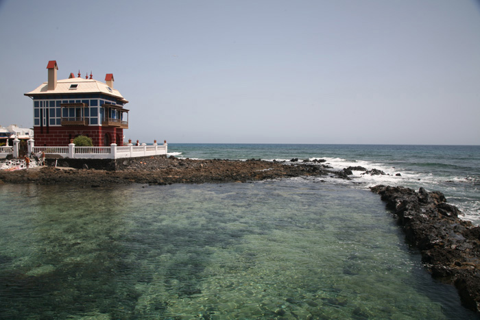
<path fill-rule="evenodd" d="M 71 88 L 72 84 L 77 84 L 77 88 Z M 117 97 L 124 103 L 128 102 L 119 93 L 119 90 L 110 88 L 104 84 L 104 82 L 99 82 L 95 79 L 84 79 L 81 77 L 58 80 L 55 90 L 48 90 L 48 82 L 43 82 L 38 88 L 29 93 L 25 93 L 25 95 L 31 97 L 34 95 L 58 95 L 71 93 L 104 93 L 105 95 Z"/>

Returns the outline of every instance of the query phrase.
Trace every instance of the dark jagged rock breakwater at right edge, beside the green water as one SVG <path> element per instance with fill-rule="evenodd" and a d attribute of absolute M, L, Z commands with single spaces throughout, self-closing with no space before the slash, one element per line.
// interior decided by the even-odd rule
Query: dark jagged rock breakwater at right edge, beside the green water
<path fill-rule="evenodd" d="M 387 202 L 432 276 L 454 284 L 462 304 L 480 312 L 480 227 L 459 219 L 461 212 L 440 192 L 392 186 L 371 190 Z"/>

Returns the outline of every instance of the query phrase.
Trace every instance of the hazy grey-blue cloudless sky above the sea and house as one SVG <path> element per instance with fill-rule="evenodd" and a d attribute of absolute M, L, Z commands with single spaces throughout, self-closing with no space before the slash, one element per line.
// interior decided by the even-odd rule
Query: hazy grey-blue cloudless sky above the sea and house
<path fill-rule="evenodd" d="M 0 124 L 71 72 L 130 101 L 125 138 L 480 144 L 473 0 L 0 0 Z"/>

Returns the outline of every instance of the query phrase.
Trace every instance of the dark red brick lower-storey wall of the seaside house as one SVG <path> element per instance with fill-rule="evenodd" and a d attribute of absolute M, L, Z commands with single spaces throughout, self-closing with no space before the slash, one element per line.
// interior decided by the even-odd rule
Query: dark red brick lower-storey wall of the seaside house
<path fill-rule="evenodd" d="M 95 147 L 104 146 L 104 136 L 108 134 L 110 143 L 123 145 L 123 129 L 117 127 L 101 127 L 101 126 L 68 126 L 68 127 L 43 127 L 43 133 L 40 127 L 34 127 L 34 140 L 37 147 L 66 147 L 70 143 L 70 139 L 76 136 L 88 136 L 92 138 Z M 117 139 L 118 137 L 118 139 Z"/>

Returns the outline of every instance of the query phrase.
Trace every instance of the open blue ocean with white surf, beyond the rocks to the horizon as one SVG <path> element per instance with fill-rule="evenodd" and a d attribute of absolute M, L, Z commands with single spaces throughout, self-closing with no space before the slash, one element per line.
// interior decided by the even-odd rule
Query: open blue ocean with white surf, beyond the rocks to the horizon
<path fill-rule="evenodd" d="M 323 158 L 334 169 L 361 166 L 387 175 L 354 171 L 344 183 L 368 189 L 376 184 L 439 190 L 464 212 L 464 219 L 480 224 L 480 146 L 459 145 L 255 145 L 169 144 L 169 152 L 183 158 L 313 160 Z M 396 174 L 400 174 L 397 176 Z M 324 179 L 324 178 L 322 178 Z M 337 181 L 332 181 L 338 183 Z"/>

